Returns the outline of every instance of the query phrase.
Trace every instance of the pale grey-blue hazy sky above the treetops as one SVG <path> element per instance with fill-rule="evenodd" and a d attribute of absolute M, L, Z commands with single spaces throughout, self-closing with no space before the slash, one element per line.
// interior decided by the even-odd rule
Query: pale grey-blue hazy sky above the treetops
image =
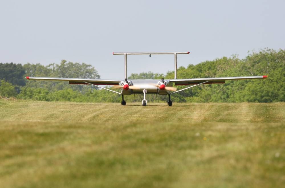
<path fill-rule="evenodd" d="M 0 62 L 91 64 L 102 79 L 124 79 L 113 52 L 187 52 L 187 67 L 232 54 L 285 48 L 285 1 L 4 1 Z M 129 55 L 128 76 L 174 70 L 174 55 Z"/>

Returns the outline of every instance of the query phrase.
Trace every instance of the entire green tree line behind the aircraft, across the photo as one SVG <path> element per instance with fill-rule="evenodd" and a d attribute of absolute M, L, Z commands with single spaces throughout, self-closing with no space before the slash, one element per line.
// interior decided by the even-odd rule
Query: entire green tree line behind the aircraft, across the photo
<path fill-rule="evenodd" d="M 226 81 L 200 85 L 172 95 L 174 102 L 282 102 L 285 101 L 285 51 L 264 49 L 244 59 L 238 56 L 217 58 L 180 67 L 178 78 L 268 75 L 266 80 Z M 62 60 L 60 64 L 0 63 L 0 96 L 40 101 L 120 102 L 121 96 L 90 85 L 59 81 L 34 81 L 25 76 L 75 77 L 99 79 L 97 70 L 85 63 Z M 174 71 L 132 73 L 129 79 L 172 79 Z M 107 86 L 108 87 L 108 86 Z M 176 86 L 178 89 L 187 86 Z M 141 102 L 142 95 L 126 96 L 127 102 Z M 166 96 L 148 95 L 148 101 L 166 101 Z"/>

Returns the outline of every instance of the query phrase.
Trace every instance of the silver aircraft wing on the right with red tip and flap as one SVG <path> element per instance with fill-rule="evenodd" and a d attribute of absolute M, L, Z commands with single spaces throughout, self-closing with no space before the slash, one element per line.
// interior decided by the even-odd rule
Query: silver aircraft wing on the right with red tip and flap
<path fill-rule="evenodd" d="M 225 83 L 226 80 L 245 80 L 245 79 L 264 79 L 267 76 L 239 76 L 239 77 L 219 77 L 219 78 L 190 78 L 190 79 L 170 79 L 169 82 L 175 85 L 191 85 L 206 82 L 211 83 Z"/>

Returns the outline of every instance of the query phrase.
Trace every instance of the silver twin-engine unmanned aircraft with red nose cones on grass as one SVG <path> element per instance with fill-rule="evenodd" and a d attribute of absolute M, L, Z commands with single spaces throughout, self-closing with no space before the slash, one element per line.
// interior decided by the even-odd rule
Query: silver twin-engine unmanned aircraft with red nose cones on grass
<path fill-rule="evenodd" d="M 126 105 L 124 95 L 143 94 L 142 105 L 146 106 L 146 94 L 168 95 L 168 106 L 172 106 L 170 96 L 190 89 L 201 84 L 225 83 L 226 80 L 244 80 L 244 79 L 265 79 L 267 76 L 240 76 L 240 77 L 218 77 L 218 78 L 188 78 L 177 79 L 177 54 L 189 54 L 190 52 L 113 52 L 113 55 L 125 56 L 125 79 L 82 79 L 82 78 L 52 78 L 52 77 L 29 77 L 28 80 L 51 80 L 51 81 L 69 81 L 70 84 L 89 84 L 95 87 L 106 89 L 108 91 L 122 95 L 122 105 Z M 127 55 L 153 55 L 153 54 L 174 54 L 174 79 L 130 79 L 127 78 Z M 177 91 L 174 85 L 192 85 Z M 121 88 L 121 92 L 113 91 L 99 85 L 114 85 L 112 88 Z"/>

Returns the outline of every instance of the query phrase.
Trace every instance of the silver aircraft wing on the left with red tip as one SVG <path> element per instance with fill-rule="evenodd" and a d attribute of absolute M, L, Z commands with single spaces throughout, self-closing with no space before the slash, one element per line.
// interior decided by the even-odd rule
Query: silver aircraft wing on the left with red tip
<path fill-rule="evenodd" d="M 70 84 L 119 85 L 121 80 L 103 80 L 88 78 L 52 78 L 52 77 L 26 77 L 28 80 L 69 81 Z M 87 82 L 87 83 L 86 83 Z"/>

